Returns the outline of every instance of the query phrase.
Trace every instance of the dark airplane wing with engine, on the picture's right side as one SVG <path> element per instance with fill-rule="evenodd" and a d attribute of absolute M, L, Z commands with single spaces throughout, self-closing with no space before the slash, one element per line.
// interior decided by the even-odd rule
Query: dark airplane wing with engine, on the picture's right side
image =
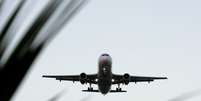
<path fill-rule="evenodd" d="M 119 75 L 113 74 L 112 75 L 113 82 L 112 84 L 128 84 L 129 82 L 151 82 L 154 80 L 159 79 L 167 79 L 167 77 L 146 77 L 146 76 L 130 76 L 129 74 Z"/>

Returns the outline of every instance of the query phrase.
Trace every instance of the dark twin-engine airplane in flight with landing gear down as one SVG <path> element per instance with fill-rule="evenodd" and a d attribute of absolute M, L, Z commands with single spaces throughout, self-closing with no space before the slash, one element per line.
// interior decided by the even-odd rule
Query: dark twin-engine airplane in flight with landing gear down
<path fill-rule="evenodd" d="M 98 73 L 80 75 L 43 75 L 45 78 L 55 78 L 56 80 L 77 81 L 81 84 L 89 83 L 87 90 L 83 92 L 101 92 L 106 95 L 108 92 L 127 92 L 122 90 L 120 84 L 128 85 L 130 82 L 151 82 L 157 79 L 167 79 L 167 77 L 145 77 L 145 76 L 130 76 L 128 73 L 123 75 L 112 73 L 112 58 L 109 54 L 104 53 L 98 59 Z M 97 84 L 98 90 L 94 90 L 91 84 Z M 111 86 L 117 84 L 116 90 L 111 90 Z"/>

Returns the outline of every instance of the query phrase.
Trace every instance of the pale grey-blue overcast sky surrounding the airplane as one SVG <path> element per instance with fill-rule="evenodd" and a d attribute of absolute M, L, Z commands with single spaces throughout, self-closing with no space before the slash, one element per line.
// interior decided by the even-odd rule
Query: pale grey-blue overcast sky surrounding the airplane
<path fill-rule="evenodd" d="M 200 0 L 91 0 L 43 50 L 12 101 L 168 101 L 201 88 Z M 109 53 L 114 73 L 167 76 L 130 83 L 127 93 L 83 93 L 79 82 L 45 79 L 44 74 L 96 73 L 100 54 Z M 97 86 L 93 85 L 94 88 Z M 114 89 L 116 87 L 113 86 Z M 188 101 L 200 101 L 201 96 Z"/>

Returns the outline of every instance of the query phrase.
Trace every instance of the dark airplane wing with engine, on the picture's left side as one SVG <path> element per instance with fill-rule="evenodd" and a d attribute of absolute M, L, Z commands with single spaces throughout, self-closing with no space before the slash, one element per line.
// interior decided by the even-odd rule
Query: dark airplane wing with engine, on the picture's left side
<path fill-rule="evenodd" d="M 59 81 L 80 81 L 82 84 L 91 83 L 97 84 L 97 74 L 85 74 L 81 73 L 80 75 L 43 75 L 45 78 L 55 78 Z"/>

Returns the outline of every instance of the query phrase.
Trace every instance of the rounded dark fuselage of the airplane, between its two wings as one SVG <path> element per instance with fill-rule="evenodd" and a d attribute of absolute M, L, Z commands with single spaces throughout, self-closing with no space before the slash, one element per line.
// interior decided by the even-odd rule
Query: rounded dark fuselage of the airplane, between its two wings
<path fill-rule="evenodd" d="M 102 54 L 98 61 L 98 89 L 102 94 L 107 94 L 112 85 L 112 58 Z"/>

